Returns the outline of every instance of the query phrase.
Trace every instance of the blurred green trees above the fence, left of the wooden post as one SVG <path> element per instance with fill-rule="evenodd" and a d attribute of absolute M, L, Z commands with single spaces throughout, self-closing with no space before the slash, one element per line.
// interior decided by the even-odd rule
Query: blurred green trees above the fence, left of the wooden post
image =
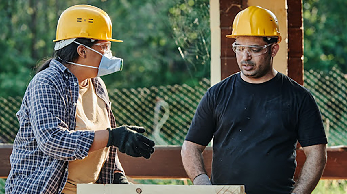
<path fill-rule="evenodd" d="M 54 54 L 62 11 L 99 7 L 111 17 L 114 56 L 123 71 L 103 79 L 109 89 L 186 83 L 210 76 L 209 0 L 0 0 L 0 96 L 23 96 L 40 61 Z"/>

